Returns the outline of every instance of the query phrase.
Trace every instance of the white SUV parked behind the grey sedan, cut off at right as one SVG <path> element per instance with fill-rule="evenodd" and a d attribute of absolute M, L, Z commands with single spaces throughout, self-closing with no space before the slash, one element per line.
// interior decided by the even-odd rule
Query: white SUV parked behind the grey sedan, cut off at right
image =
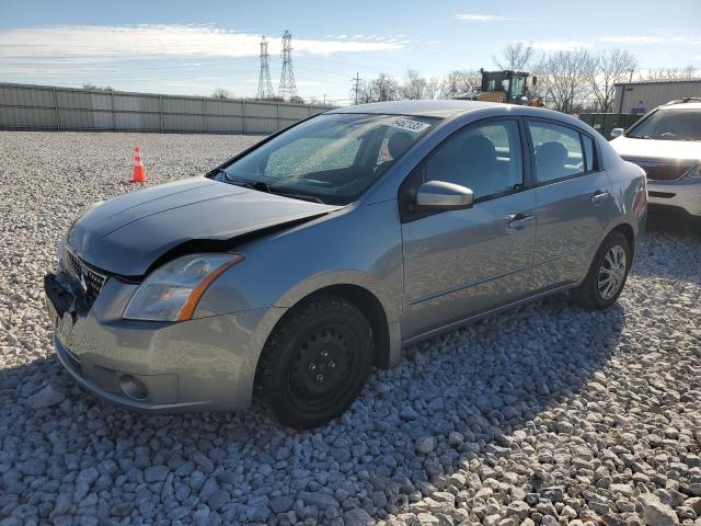
<path fill-rule="evenodd" d="M 613 149 L 647 173 L 651 211 L 701 219 L 701 99 L 669 102 L 611 137 Z"/>

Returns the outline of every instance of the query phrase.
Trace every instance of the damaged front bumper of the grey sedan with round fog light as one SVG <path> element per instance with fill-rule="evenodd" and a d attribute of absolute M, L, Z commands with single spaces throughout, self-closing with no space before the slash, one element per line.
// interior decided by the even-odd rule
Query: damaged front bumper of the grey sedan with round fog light
<path fill-rule="evenodd" d="M 107 277 L 92 305 L 64 273 L 44 278 L 59 361 L 95 395 L 154 412 L 231 411 L 250 405 L 268 309 L 182 322 L 122 318 L 137 285 Z"/>

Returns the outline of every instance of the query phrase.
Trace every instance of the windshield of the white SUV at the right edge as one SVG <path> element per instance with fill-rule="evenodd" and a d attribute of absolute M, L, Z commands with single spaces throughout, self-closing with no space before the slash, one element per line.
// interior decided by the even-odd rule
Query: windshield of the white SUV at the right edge
<path fill-rule="evenodd" d="M 627 137 L 701 140 L 701 110 L 659 110 L 636 124 Z"/>

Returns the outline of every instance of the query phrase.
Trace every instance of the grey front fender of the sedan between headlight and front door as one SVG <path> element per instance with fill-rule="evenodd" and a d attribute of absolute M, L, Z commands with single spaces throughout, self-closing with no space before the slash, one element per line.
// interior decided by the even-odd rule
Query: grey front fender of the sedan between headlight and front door
<path fill-rule="evenodd" d="M 358 285 L 401 312 L 402 258 L 397 201 L 348 207 L 235 249 L 245 259 L 203 296 L 195 317 L 289 308 L 331 285 Z"/>

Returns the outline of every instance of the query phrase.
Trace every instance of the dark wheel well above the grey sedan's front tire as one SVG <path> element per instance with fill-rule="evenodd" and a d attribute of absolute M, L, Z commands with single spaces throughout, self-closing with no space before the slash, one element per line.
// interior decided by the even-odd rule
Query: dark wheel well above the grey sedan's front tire
<path fill-rule="evenodd" d="M 309 296 L 300 299 L 288 312 L 291 312 L 300 304 L 309 301 L 319 295 L 332 295 L 350 301 L 366 316 L 372 329 L 372 341 L 375 344 L 375 365 L 380 368 L 388 368 L 390 363 L 390 333 L 387 322 L 387 315 L 380 300 L 368 289 L 357 285 L 331 285 L 329 287 L 314 290 Z M 281 320 L 280 320 L 281 321 Z M 279 322 L 278 322 L 279 323 Z"/>

